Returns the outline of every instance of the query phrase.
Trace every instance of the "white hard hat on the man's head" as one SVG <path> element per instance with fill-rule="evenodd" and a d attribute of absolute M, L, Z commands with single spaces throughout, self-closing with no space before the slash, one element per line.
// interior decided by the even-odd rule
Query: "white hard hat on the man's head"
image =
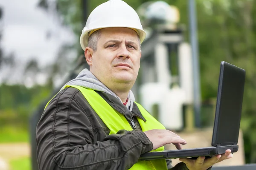
<path fill-rule="evenodd" d="M 133 29 L 139 35 L 140 43 L 146 37 L 137 12 L 122 0 L 109 0 L 97 6 L 90 13 L 80 37 L 80 44 L 83 50 L 88 44 L 90 34 L 101 28 L 111 27 Z"/>

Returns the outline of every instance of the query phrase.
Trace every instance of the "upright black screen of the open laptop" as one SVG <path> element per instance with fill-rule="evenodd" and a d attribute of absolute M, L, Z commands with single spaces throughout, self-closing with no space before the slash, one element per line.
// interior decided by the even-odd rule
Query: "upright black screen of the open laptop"
<path fill-rule="evenodd" d="M 244 69 L 221 62 L 212 146 L 237 144 L 244 82 Z"/>

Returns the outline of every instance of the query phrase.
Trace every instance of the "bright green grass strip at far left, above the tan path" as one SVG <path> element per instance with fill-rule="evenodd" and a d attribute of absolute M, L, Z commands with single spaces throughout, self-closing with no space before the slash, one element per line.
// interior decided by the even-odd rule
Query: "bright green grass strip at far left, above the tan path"
<path fill-rule="evenodd" d="M 0 128 L 0 143 L 29 142 L 29 132 L 17 127 Z"/>

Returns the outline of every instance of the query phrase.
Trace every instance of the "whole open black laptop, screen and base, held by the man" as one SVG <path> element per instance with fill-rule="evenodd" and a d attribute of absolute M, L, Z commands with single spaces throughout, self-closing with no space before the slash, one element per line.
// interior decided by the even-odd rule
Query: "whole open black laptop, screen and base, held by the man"
<path fill-rule="evenodd" d="M 244 69 L 221 62 L 212 147 L 148 152 L 142 154 L 140 160 L 211 157 L 223 154 L 227 149 L 231 153 L 237 152 L 244 82 Z"/>

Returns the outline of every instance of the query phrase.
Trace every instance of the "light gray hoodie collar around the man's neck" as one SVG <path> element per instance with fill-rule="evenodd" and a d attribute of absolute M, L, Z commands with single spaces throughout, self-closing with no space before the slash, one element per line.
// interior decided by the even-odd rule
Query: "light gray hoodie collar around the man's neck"
<path fill-rule="evenodd" d="M 105 93 L 108 93 L 108 94 L 111 94 L 111 95 L 115 96 L 117 99 L 120 100 L 120 102 L 122 102 L 122 100 L 118 96 L 116 96 L 116 94 L 113 91 L 111 91 L 109 88 L 107 88 L 102 82 L 100 82 L 86 68 L 84 70 L 82 70 L 75 79 L 70 80 L 65 85 L 79 85 L 79 86 L 84 87 L 84 88 L 90 88 L 90 89 L 93 89 L 93 90 L 96 90 L 96 91 L 103 91 Z M 62 88 L 64 88 L 64 86 Z M 134 100 L 135 100 L 134 94 L 130 90 L 129 94 L 128 94 L 128 102 L 126 104 L 126 107 L 130 111 L 132 110 L 132 106 L 133 106 L 132 104 L 133 104 Z"/>

